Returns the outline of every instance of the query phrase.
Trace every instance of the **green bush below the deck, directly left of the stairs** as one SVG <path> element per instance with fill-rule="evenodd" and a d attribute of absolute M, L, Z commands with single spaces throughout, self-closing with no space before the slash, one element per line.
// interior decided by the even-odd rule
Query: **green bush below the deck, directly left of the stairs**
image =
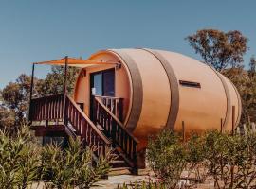
<path fill-rule="evenodd" d="M 108 157 L 100 157 L 93 166 L 93 152 L 84 149 L 82 142 L 70 139 L 69 146 L 61 149 L 56 144 L 47 145 L 42 153 L 43 179 L 46 188 L 90 188 L 109 171 Z"/>

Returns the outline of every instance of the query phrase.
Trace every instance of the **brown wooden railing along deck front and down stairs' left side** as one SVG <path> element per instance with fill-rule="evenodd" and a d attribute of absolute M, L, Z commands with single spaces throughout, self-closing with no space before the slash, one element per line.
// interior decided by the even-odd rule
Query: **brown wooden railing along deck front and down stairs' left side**
<path fill-rule="evenodd" d="M 30 121 L 62 120 L 66 130 L 72 136 L 80 136 L 86 146 L 96 148 L 96 155 L 105 155 L 111 142 L 101 133 L 93 122 L 68 95 L 58 94 L 31 99 Z"/>

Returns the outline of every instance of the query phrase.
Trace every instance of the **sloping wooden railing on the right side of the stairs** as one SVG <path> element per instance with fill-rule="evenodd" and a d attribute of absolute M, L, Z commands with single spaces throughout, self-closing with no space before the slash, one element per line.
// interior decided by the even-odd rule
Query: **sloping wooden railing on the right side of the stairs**
<path fill-rule="evenodd" d="M 121 148 L 132 163 L 137 163 L 137 138 L 123 126 L 119 118 L 97 96 L 95 97 L 94 106 L 96 123 L 101 125 L 106 135 L 111 137 L 114 144 Z M 137 166 L 137 164 L 134 164 L 134 166 Z"/>

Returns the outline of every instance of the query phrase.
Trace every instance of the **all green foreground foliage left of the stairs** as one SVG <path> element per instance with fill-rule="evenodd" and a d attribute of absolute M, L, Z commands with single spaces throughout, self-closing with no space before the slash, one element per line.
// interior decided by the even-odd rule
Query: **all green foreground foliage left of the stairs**
<path fill-rule="evenodd" d="M 65 149 L 38 146 L 27 127 L 17 134 L 0 131 L 1 189 L 26 189 L 39 181 L 50 189 L 89 188 L 109 171 L 110 153 L 95 164 L 92 153 L 72 139 Z"/>

